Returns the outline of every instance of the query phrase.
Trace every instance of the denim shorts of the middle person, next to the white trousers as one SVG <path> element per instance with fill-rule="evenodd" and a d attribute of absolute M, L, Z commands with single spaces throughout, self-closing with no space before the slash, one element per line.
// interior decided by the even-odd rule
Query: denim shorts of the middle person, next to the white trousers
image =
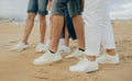
<path fill-rule="evenodd" d="M 67 7 L 72 18 L 81 15 L 80 0 L 53 0 L 52 14 L 65 15 Z"/>

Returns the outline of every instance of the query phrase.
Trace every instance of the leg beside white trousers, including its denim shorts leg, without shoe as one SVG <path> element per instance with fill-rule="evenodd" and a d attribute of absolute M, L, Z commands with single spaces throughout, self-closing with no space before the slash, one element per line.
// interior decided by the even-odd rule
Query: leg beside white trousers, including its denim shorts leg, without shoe
<path fill-rule="evenodd" d="M 78 47 L 85 49 L 84 22 L 79 0 L 70 0 L 68 3 L 69 15 L 73 19 L 74 28 L 78 39 Z M 73 12 L 74 11 L 74 12 Z"/>

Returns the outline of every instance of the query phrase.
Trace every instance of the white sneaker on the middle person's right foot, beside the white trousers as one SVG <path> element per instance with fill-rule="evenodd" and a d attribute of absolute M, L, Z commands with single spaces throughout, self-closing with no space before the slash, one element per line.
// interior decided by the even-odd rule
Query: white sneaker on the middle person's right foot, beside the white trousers
<path fill-rule="evenodd" d="M 78 59 L 81 59 L 84 55 L 82 50 L 76 49 L 72 55 L 66 56 L 65 58 L 73 58 L 76 57 Z"/>

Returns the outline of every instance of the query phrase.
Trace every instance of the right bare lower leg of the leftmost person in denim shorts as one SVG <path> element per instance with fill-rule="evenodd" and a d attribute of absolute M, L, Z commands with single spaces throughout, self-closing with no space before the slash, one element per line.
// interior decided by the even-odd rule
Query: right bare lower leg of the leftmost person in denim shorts
<path fill-rule="evenodd" d="M 45 15 L 40 14 L 40 35 L 41 35 L 40 43 L 44 43 L 45 31 L 46 31 Z"/>

